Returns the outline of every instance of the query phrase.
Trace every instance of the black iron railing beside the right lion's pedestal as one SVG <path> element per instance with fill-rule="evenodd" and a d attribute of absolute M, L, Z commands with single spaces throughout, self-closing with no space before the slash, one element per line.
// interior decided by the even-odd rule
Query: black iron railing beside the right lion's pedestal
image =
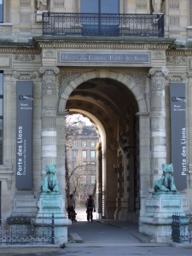
<path fill-rule="evenodd" d="M 192 215 L 172 215 L 172 241 L 192 242 Z"/>

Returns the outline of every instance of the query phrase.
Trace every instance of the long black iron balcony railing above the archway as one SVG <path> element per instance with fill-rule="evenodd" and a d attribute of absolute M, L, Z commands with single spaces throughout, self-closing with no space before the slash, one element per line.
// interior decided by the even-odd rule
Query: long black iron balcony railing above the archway
<path fill-rule="evenodd" d="M 43 13 L 44 36 L 164 37 L 164 15 Z"/>

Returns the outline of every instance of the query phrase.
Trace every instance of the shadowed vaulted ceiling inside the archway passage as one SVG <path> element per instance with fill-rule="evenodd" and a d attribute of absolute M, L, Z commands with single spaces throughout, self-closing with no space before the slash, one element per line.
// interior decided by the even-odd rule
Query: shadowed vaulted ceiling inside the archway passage
<path fill-rule="evenodd" d="M 138 111 L 131 91 L 113 79 L 90 79 L 80 84 L 69 96 L 66 108 L 79 108 L 92 113 L 110 131 L 114 122 L 125 121 L 126 113 Z"/>

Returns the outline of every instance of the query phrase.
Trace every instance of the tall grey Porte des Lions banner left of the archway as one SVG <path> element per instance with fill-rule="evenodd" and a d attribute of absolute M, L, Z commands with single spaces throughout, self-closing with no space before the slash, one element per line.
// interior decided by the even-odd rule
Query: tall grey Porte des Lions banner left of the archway
<path fill-rule="evenodd" d="M 18 81 L 16 124 L 16 188 L 32 189 L 32 81 Z"/>

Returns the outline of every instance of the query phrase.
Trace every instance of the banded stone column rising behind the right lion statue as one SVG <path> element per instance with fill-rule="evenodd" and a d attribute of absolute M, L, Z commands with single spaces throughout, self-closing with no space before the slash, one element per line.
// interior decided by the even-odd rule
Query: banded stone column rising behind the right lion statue
<path fill-rule="evenodd" d="M 150 131 L 151 131 L 151 189 L 154 180 L 161 177 L 161 165 L 166 163 L 166 68 L 151 68 L 150 86 Z"/>

